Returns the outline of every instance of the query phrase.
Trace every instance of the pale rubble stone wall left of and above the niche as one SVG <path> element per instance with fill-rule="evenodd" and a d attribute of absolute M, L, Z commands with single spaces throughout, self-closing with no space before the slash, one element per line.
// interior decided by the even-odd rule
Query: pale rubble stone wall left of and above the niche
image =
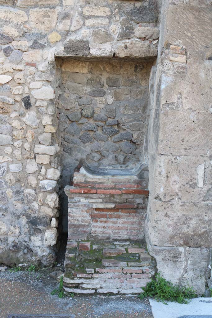
<path fill-rule="evenodd" d="M 55 59 L 152 59 L 159 7 L 154 0 L 1 4 L 0 262 L 51 265 L 62 154 Z"/>

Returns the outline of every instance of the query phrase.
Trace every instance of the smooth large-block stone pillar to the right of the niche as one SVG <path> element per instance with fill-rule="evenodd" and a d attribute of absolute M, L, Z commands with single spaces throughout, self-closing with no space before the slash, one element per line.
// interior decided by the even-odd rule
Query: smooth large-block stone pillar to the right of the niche
<path fill-rule="evenodd" d="M 211 1 L 164 2 L 161 14 L 151 77 L 147 245 L 166 279 L 202 295 L 212 246 Z"/>

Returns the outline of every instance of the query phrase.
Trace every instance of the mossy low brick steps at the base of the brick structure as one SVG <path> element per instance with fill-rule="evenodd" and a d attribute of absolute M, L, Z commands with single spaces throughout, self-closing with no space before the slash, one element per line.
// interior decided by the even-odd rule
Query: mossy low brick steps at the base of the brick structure
<path fill-rule="evenodd" d="M 69 243 L 64 289 L 86 294 L 138 294 L 153 272 L 151 256 L 139 242 Z"/>

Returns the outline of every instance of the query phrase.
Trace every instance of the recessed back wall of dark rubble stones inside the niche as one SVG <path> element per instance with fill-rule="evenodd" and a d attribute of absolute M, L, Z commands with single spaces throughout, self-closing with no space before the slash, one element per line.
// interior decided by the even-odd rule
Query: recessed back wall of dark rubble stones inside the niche
<path fill-rule="evenodd" d="M 144 162 L 151 63 L 65 60 L 59 66 L 59 126 L 69 176 L 80 159 L 110 168 Z"/>

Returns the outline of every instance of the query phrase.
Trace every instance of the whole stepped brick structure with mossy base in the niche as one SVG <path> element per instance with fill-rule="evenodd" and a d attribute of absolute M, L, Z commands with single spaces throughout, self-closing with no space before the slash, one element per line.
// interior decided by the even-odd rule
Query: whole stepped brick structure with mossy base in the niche
<path fill-rule="evenodd" d="M 65 193 L 69 199 L 65 292 L 141 293 L 154 274 L 140 230 L 149 193 L 142 189 L 142 180 L 75 172 L 73 186 L 66 186 Z"/>

